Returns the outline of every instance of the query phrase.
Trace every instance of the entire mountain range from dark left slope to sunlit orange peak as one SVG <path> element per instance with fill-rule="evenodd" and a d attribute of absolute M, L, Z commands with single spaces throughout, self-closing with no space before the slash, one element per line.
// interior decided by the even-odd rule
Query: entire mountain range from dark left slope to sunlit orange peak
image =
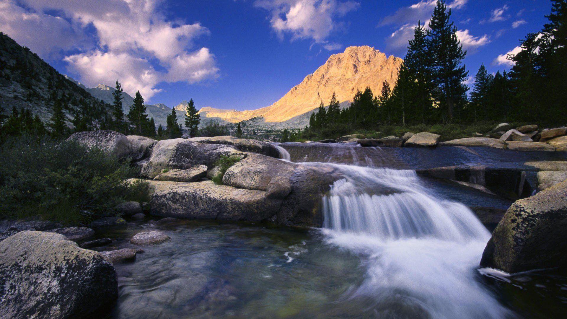
<path fill-rule="evenodd" d="M 351 102 L 357 90 L 366 87 L 379 94 L 383 81 L 391 86 L 397 81 L 397 72 L 403 63 L 401 58 L 387 57 L 386 54 L 368 47 L 348 47 L 345 52 L 333 54 L 324 65 L 307 75 L 301 83 L 294 86 L 271 106 L 251 111 L 225 110 L 203 107 L 201 127 L 216 122 L 231 124 L 246 121 L 248 128 L 282 129 L 303 128 L 321 101 L 328 104 L 335 92 L 341 106 Z M 41 119 L 48 120 L 53 106 L 50 98 L 53 90 L 62 91 L 68 96 L 69 108 L 65 110 L 68 119 L 73 118 L 73 110 L 95 106 L 101 112 L 111 111 L 114 87 L 100 84 L 86 87 L 73 78 L 58 73 L 35 53 L 22 48 L 10 37 L 0 36 L 0 111 L 7 113 L 12 106 L 27 107 Z M 122 110 L 128 114 L 133 103 L 129 94 L 122 94 Z M 174 107 L 177 121 L 184 124 L 187 101 Z M 156 126 L 166 126 L 171 108 L 163 103 L 146 104 L 146 111 L 154 118 Z"/>

